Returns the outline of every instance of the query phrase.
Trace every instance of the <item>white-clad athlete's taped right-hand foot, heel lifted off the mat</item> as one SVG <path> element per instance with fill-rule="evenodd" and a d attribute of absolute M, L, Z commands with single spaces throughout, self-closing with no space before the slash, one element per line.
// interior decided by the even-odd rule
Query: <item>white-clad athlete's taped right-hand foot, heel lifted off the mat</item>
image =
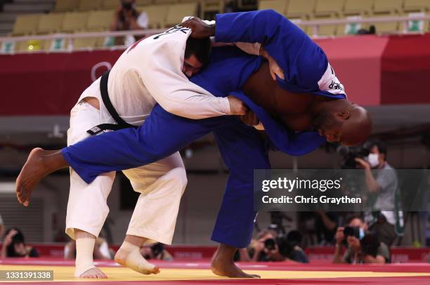
<path fill-rule="evenodd" d="M 115 262 L 124 267 L 129 267 L 131 270 L 142 274 L 158 274 L 159 267 L 148 263 L 148 261 L 143 258 L 140 251 L 124 251 L 124 249 L 119 248 L 115 254 Z"/>

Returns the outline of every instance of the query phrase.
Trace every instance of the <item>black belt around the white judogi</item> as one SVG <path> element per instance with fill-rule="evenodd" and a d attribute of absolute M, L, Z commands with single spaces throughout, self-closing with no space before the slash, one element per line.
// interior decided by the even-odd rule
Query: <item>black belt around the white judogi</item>
<path fill-rule="evenodd" d="M 93 128 L 90 128 L 87 133 L 90 135 L 97 135 L 98 133 L 101 133 L 103 131 L 117 131 L 121 130 L 122 128 L 137 128 L 136 126 L 133 126 L 126 121 L 124 121 L 121 117 L 119 117 L 119 114 L 117 110 L 112 105 L 112 102 L 110 102 L 109 93 L 107 93 L 107 79 L 109 78 L 109 72 L 105 72 L 105 74 L 102 75 L 100 79 L 100 93 L 102 96 L 103 104 L 105 105 L 107 112 L 112 116 L 112 118 L 117 122 L 117 124 L 100 124 Z"/>

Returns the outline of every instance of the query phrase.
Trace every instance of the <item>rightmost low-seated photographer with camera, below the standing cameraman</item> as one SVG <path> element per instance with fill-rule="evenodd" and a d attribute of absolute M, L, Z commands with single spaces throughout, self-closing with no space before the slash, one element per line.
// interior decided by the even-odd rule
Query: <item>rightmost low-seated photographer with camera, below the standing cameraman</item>
<path fill-rule="evenodd" d="M 353 218 L 347 227 L 338 227 L 334 236 L 336 249 L 333 263 L 389 263 L 390 251 L 374 232 L 367 230 L 361 218 Z M 342 246 L 346 247 L 344 256 Z"/>

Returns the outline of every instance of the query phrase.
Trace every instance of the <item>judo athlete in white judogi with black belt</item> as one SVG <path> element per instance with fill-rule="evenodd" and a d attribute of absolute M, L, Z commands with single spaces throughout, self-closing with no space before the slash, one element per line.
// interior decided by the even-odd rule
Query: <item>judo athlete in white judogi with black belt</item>
<path fill-rule="evenodd" d="M 188 81 L 187 76 L 198 72 L 205 63 L 197 53 L 188 52 L 184 58 L 185 46 L 189 48 L 188 42 L 196 41 L 187 41 L 189 34 L 190 29 L 174 27 L 134 44 L 115 62 L 107 91 L 117 114 L 126 123 L 140 126 L 156 103 L 168 112 L 190 119 L 245 114 L 246 107 L 240 100 L 214 97 Z M 198 48 L 198 41 L 193 43 L 194 47 Z M 210 43 L 205 45 L 207 55 L 204 51 L 200 53 L 209 60 Z M 67 145 L 88 138 L 87 130 L 98 130 L 94 126 L 118 123 L 114 117 L 103 104 L 99 78 L 86 88 L 72 108 Z M 145 239 L 171 244 L 178 206 L 187 184 L 183 161 L 176 152 L 153 164 L 123 172 L 133 190 L 141 195 L 115 260 L 143 274 L 157 273 L 158 268 L 141 256 L 139 248 Z M 70 168 L 66 232 L 77 240 L 76 277 L 106 278 L 93 265 L 93 246 L 109 213 L 106 201 L 114 179 L 112 171 L 87 184 Z"/>

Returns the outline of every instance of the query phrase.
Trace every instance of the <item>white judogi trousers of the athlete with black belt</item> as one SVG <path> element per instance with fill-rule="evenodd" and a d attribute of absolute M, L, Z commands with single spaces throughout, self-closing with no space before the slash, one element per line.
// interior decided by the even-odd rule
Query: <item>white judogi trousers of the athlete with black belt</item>
<path fill-rule="evenodd" d="M 88 138 L 90 135 L 86 131 L 103 123 L 111 121 L 102 120 L 95 107 L 79 102 L 70 113 L 67 145 Z M 126 234 L 171 244 L 179 204 L 187 185 L 181 155 L 176 152 L 153 164 L 123 172 L 131 181 L 133 190 L 141 193 Z M 75 228 L 98 237 L 109 213 L 107 196 L 114 179 L 115 172 L 112 171 L 87 184 L 70 168 L 66 233 L 72 239 L 75 239 Z"/>

